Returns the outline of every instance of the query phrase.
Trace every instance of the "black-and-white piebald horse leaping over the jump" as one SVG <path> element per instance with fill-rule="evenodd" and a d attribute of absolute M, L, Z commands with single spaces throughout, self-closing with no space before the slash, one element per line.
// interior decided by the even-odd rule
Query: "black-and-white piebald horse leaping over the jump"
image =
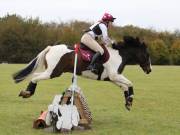
<path fill-rule="evenodd" d="M 134 99 L 133 83 L 123 74 L 127 64 L 139 64 L 142 70 L 149 74 L 152 70 L 151 59 L 145 42 L 138 37 L 124 36 L 123 41 L 105 47 L 109 58 L 102 64 L 101 72 L 93 73 L 87 70 L 89 62 L 84 61 L 78 53 L 77 75 L 111 81 L 122 88 L 125 98 L 125 107 L 130 110 Z M 22 98 L 31 97 L 40 80 L 52 79 L 65 72 L 73 72 L 75 51 L 65 44 L 47 46 L 29 64 L 13 75 L 13 80 L 19 83 L 27 78 L 30 82 L 25 90 L 19 94 Z M 41 71 L 41 72 L 40 72 Z"/>

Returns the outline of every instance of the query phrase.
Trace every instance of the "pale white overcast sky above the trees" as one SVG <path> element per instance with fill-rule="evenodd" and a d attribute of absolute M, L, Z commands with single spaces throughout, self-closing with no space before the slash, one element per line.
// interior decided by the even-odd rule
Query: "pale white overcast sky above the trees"
<path fill-rule="evenodd" d="M 0 17 L 17 14 L 42 22 L 96 22 L 108 12 L 117 26 L 180 30 L 180 0 L 0 0 Z"/>

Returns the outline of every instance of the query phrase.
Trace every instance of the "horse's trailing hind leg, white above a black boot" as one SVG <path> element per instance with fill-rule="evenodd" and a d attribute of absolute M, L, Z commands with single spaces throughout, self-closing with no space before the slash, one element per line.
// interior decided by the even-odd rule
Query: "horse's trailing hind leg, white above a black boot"
<path fill-rule="evenodd" d="M 51 73 L 48 72 L 48 70 L 39 73 L 39 75 L 36 75 L 31 79 L 29 82 L 29 85 L 27 86 L 25 91 L 21 91 L 19 96 L 22 96 L 23 98 L 29 98 L 32 96 L 36 90 L 37 82 L 40 80 L 47 80 L 50 78 Z"/>

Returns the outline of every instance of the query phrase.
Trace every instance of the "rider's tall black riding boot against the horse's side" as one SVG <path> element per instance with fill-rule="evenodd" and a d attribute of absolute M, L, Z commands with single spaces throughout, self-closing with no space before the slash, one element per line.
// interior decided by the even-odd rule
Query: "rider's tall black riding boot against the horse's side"
<path fill-rule="evenodd" d="M 91 70 L 92 72 L 96 72 L 96 68 L 95 68 L 95 63 L 97 62 L 97 60 L 101 57 L 101 53 L 100 52 L 96 52 L 96 54 L 94 54 L 90 65 L 87 67 L 87 70 Z"/>

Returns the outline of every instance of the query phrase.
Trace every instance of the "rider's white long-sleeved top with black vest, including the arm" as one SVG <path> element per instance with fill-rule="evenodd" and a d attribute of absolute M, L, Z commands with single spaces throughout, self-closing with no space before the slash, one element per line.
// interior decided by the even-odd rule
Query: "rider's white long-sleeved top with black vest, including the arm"
<path fill-rule="evenodd" d="M 94 38 L 94 39 L 101 39 L 105 45 L 108 45 L 111 43 L 111 39 L 108 36 L 108 30 L 106 24 L 102 22 L 97 22 L 93 24 L 89 30 L 88 33 Z"/>

